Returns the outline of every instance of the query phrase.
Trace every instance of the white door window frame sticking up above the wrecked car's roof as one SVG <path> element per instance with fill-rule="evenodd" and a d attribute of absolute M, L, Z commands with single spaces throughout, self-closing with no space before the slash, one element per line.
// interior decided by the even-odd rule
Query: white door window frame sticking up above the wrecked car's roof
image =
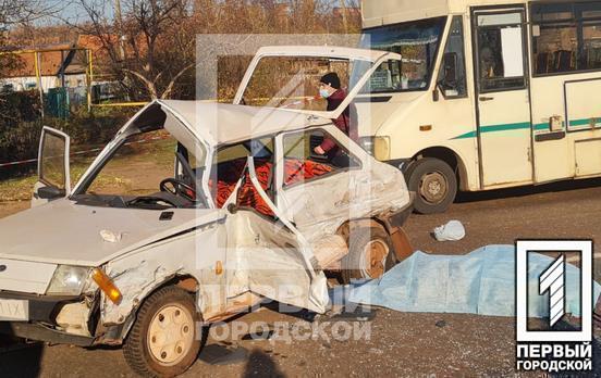
<path fill-rule="evenodd" d="M 285 66 L 278 66 L 283 64 Z M 296 62 L 290 62 L 290 60 L 296 60 Z M 348 64 L 348 87 L 346 99 L 333 111 L 315 111 L 315 110 L 300 110 L 303 113 L 324 117 L 324 118 L 338 118 L 342 112 L 351 104 L 351 102 L 365 90 L 366 85 L 377 85 L 379 80 L 382 80 L 382 75 L 373 75 L 377 71 L 382 71 L 382 64 L 388 63 L 390 67 L 402 64 L 402 56 L 394 52 L 377 51 L 367 49 L 352 49 L 343 47 L 327 47 L 327 46 L 275 46 L 263 47 L 259 49 L 236 92 L 234 98 L 234 104 L 250 104 L 247 96 L 261 97 L 267 99 L 268 102 L 261 103 L 261 106 L 266 108 L 290 108 L 294 104 L 300 104 L 306 100 L 310 100 L 315 96 L 306 96 L 306 90 L 312 90 L 315 94 L 317 92 L 317 83 L 315 88 L 307 88 L 307 84 L 304 83 L 303 77 L 316 76 L 314 67 L 308 67 L 303 60 L 317 62 L 346 62 Z M 332 70 L 331 66 L 328 67 Z M 392 68 L 391 68 L 392 70 Z M 279 77 L 278 73 L 285 75 L 289 71 L 292 71 L 294 75 L 289 78 Z M 275 73 L 266 74 L 267 72 Z M 275 77 L 274 77 L 275 76 Z M 274 83 L 275 89 L 269 91 L 269 89 L 262 90 L 257 93 L 253 92 L 253 85 L 265 88 L 266 83 L 261 81 L 262 78 L 268 78 L 270 83 Z M 390 79 L 390 76 L 383 79 Z M 315 79 L 314 79 L 315 81 Z M 344 80 L 343 80 L 344 81 Z M 373 81 L 373 83 L 372 83 Z M 250 89 L 250 90 L 249 90 Z M 282 101 L 284 100 L 284 101 Z M 290 101 L 285 101 L 290 100 Z M 323 109 L 323 108 L 322 108 Z M 297 109 L 291 109 L 296 110 Z"/>

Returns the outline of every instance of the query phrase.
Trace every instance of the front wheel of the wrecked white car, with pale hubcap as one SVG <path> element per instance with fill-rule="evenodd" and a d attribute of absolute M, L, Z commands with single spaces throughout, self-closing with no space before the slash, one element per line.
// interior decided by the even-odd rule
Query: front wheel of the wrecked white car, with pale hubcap
<path fill-rule="evenodd" d="M 194 298 L 169 286 L 142 305 L 125 340 L 127 365 L 144 377 L 175 377 L 196 361 L 201 346 Z"/>

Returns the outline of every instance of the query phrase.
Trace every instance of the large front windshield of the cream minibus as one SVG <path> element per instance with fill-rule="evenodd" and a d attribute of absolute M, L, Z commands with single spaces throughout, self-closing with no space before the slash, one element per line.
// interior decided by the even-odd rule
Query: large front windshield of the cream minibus
<path fill-rule="evenodd" d="M 384 62 L 373 73 L 363 92 L 427 90 L 446 17 L 366 29 L 364 48 L 400 53 L 402 62 Z"/>

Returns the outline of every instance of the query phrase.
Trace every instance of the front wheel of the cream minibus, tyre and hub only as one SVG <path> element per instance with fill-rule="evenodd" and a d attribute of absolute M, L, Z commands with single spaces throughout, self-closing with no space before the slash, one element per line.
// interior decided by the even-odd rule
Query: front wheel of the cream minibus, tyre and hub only
<path fill-rule="evenodd" d="M 405 177 L 409 190 L 416 192 L 414 207 L 419 214 L 444 213 L 457 194 L 455 173 L 442 160 L 417 160 L 409 165 Z"/>

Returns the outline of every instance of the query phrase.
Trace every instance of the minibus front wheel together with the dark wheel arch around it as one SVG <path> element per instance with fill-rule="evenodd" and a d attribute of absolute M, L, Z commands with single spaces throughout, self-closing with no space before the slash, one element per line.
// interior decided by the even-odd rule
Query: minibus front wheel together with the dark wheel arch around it
<path fill-rule="evenodd" d="M 467 184 L 462 159 L 444 147 L 417 153 L 405 169 L 405 178 L 409 190 L 417 194 L 415 210 L 420 214 L 444 213 Z"/>

